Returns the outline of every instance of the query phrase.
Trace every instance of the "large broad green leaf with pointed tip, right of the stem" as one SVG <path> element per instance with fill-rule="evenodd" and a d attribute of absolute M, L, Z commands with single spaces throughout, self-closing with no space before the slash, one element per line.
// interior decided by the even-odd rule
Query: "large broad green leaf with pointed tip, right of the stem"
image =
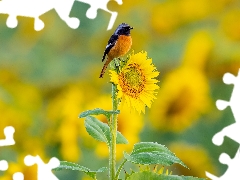
<path fill-rule="evenodd" d="M 182 166 L 187 166 L 168 150 L 165 146 L 153 142 L 140 142 L 134 145 L 131 154 L 124 152 L 124 157 L 135 164 L 161 164 L 170 166 L 174 163 L 179 163 Z"/>

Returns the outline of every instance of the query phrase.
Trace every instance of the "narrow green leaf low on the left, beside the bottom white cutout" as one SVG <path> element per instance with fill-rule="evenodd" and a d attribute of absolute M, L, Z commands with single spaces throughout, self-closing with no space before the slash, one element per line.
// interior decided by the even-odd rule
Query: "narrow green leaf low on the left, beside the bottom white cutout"
<path fill-rule="evenodd" d="M 90 176 L 91 178 L 96 179 L 97 173 L 102 173 L 102 172 L 106 171 L 108 168 L 102 167 L 102 168 L 98 169 L 97 171 L 92 171 L 92 170 L 90 170 L 84 166 L 81 166 L 79 164 L 76 164 L 76 163 L 61 161 L 60 166 L 58 166 L 57 168 L 55 168 L 53 170 L 60 171 L 60 170 L 64 170 L 64 169 L 72 170 L 72 171 L 81 171 L 81 172 L 84 172 L 85 174 L 87 174 L 88 176 Z"/>

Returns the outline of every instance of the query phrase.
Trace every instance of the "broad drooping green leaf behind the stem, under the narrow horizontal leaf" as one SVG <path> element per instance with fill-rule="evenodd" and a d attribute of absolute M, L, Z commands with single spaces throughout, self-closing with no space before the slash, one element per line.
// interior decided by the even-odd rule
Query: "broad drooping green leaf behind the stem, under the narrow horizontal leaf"
<path fill-rule="evenodd" d="M 85 127 L 90 136 L 109 145 L 111 139 L 110 128 L 106 123 L 99 121 L 93 116 L 87 116 L 85 120 Z M 127 143 L 127 139 L 120 132 L 117 132 L 117 144 Z"/>

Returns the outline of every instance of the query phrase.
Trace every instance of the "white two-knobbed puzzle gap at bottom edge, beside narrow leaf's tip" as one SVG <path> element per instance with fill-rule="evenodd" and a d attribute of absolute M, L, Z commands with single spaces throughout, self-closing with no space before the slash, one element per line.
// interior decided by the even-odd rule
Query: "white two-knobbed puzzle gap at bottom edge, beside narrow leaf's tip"
<path fill-rule="evenodd" d="M 60 166 L 60 161 L 57 158 L 53 157 L 48 164 L 45 164 L 39 156 L 27 155 L 24 158 L 24 163 L 27 166 L 32 166 L 34 164 L 38 165 L 38 180 L 58 180 L 58 178 L 52 173 L 52 169 Z"/>

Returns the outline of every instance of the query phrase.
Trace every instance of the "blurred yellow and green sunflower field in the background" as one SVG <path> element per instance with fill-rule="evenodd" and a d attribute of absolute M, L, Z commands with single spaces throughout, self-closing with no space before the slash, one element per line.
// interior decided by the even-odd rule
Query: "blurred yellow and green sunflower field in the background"
<path fill-rule="evenodd" d="M 54 10 L 40 17 L 45 22 L 40 32 L 31 18 L 19 17 L 17 28 L 10 29 L 7 15 L 0 15 L 0 132 L 7 125 L 16 130 L 16 145 L 0 150 L 0 159 L 10 163 L 0 180 L 12 179 L 17 171 L 25 180 L 36 179 L 36 167 L 23 164 L 28 154 L 38 154 L 45 162 L 55 156 L 94 170 L 107 165 L 107 148 L 91 139 L 78 115 L 97 107 L 111 109 L 109 75 L 98 77 L 106 43 L 122 22 L 134 27 L 132 50 L 147 51 L 161 73 L 152 108 L 145 115 L 129 115 L 127 110 L 120 115 L 119 130 L 130 143 L 118 147 L 118 159 L 136 142 L 157 141 L 190 168 L 173 166 L 174 174 L 224 173 L 227 166 L 220 164 L 219 155 L 233 157 L 239 145 L 225 138 L 218 147 L 211 139 L 234 122 L 231 109 L 219 111 L 215 102 L 229 100 L 233 86 L 225 85 L 222 76 L 237 75 L 240 68 L 240 1 L 111 2 L 109 8 L 119 14 L 110 31 L 110 15 L 100 10 L 90 20 L 85 15 L 88 8 L 74 3 L 70 15 L 81 20 L 76 30 Z M 98 160 L 92 164 L 94 158 Z M 70 171 L 56 175 L 60 180 L 85 178 Z"/>

